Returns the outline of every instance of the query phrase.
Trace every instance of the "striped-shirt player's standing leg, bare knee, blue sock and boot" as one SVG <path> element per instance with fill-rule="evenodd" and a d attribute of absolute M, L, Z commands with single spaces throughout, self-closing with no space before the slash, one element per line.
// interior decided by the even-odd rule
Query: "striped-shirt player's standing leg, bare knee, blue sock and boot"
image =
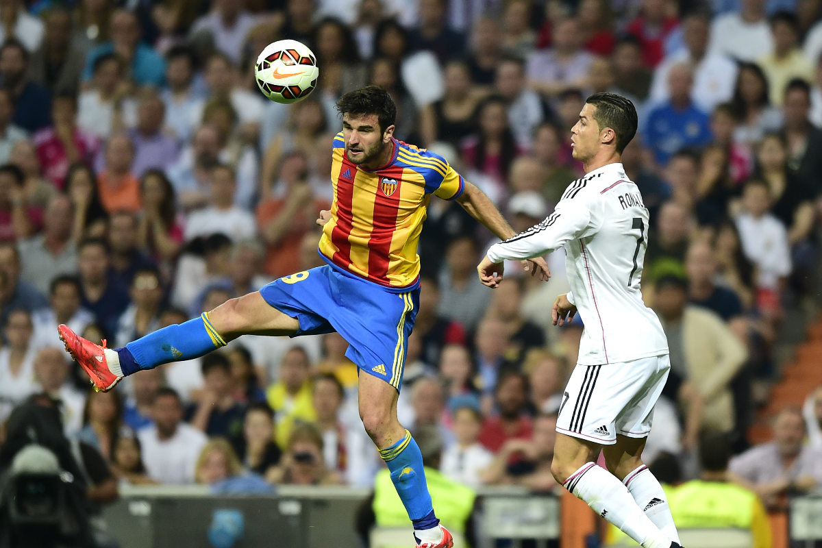
<path fill-rule="evenodd" d="M 450 532 L 434 514 L 425 481 L 423 454 L 397 419 L 396 389 L 376 376 L 359 376 L 359 412 L 368 435 L 380 449 L 391 481 L 413 523 L 419 548 L 451 548 Z"/>

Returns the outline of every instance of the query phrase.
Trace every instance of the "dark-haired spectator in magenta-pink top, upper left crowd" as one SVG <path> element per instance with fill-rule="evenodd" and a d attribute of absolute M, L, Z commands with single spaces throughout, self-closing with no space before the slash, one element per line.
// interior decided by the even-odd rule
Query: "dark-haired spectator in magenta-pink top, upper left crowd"
<path fill-rule="evenodd" d="M 37 108 L 43 108 L 40 104 Z M 44 176 L 56 187 L 65 187 L 68 168 L 76 162 L 91 163 L 99 140 L 77 127 L 77 97 L 61 92 L 51 101 L 53 125 L 35 133 L 37 157 Z"/>

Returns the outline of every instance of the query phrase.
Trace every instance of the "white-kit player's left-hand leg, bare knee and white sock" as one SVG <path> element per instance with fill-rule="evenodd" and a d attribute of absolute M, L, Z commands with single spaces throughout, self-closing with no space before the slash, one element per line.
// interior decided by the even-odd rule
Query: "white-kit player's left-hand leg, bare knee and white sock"
<path fill-rule="evenodd" d="M 593 462 L 599 445 L 557 432 L 551 466 L 556 481 L 644 548 L 677 546 L 636 505 L 626 486 Z"/>

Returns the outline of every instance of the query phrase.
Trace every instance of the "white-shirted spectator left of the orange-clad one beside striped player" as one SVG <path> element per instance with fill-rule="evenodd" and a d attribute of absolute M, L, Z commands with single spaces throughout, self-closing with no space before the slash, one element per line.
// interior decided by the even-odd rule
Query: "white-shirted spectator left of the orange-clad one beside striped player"
<path fill-rule="evenodd" d="M 234 204 L 236 186 L 231 168 L 219 164 L 212 169 L 210 205 L 193 212 L 186 219 L 187 242 L 195 237 L 210 236 L 217 232 L 225 233 L 234 242 L 255 236 L 254 215 Z"/>

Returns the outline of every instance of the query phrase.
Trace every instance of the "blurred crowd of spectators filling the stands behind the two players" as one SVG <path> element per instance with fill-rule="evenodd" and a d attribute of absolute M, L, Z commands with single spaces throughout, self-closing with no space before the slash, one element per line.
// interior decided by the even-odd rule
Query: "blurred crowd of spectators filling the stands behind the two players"
<path fill-rule="evenodd" d="M 338 334 L 246 336 L 97 394 L 56 326 L 118 347 L 321 265 L 346 91 L 389 90 L 395 136 L 448 159 L 517 230 L 580 177 L 570 127 L 612 91 L 640 114 L 623 161 L 651 213 L 643 289 L 671 349 L 649 463 L 695 477 L 708 431 L 766 502 L 815 486 L 822 389 L 773 443 L 750 448 L 746 430 L 787 312 L 819 282 L 820 14 L 820 0 L 2 0 L 0 422 L 49 394 L 67 435 L 130 484 L 373 485 Z M 293 105 L 253 75 L 284 38 L 320 67 Z M 495 291 L 478 283 L 492 242 L 432 200 L 399 418 L 436 431 L 446 477 L 556 489 L 585 318 L 550 325 L 562 256 L 547 283 L 516 264 Z"/>

